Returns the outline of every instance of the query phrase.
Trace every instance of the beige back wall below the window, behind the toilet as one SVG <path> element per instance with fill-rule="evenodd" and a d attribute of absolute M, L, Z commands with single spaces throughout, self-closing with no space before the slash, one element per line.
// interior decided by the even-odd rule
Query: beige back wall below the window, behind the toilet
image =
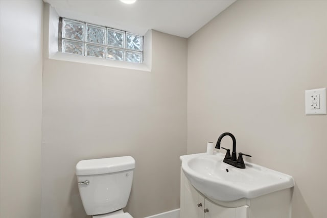
<path fill-rule="evenodd" d="M 75 165 L 125 155 L 136 160 L 125 211 L 179 208 L 186 58 L 186 39 L 156 31 L 151 72 L 44 58 L 42 217 L 86 217 Z"/>

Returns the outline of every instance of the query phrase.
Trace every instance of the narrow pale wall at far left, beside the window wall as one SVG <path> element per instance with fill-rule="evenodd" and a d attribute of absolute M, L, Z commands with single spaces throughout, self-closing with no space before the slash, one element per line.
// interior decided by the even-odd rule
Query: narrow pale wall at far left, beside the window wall
<path fill-rule="evenodd" d="M 0 1 L 0 217 L 40 217 L 42 1 Z"/>

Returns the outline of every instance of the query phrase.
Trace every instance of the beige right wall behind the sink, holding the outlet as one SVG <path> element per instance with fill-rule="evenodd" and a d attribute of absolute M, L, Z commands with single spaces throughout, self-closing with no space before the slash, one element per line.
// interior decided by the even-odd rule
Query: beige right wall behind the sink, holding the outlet
<path fill-rule="evenodd" d="M 251 162 L 294 177 L 294 218 L 327 217 L 326 1 L 237 1 L 188 39 L 188 153 L 223 132 Z M 224 147 L 231 140 L 223 139 Z"/>

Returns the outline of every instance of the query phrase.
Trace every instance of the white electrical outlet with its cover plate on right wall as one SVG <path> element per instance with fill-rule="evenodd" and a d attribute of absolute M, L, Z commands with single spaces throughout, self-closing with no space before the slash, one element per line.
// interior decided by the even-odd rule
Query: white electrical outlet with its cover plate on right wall
<path fill-rule="evenodd" d="M 306 114 L 326 114 L 326 88 L 306 90 Z"/>

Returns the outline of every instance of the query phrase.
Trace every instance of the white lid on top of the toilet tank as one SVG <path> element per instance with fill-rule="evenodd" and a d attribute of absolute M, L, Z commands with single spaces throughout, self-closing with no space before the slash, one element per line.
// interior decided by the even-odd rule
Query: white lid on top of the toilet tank
<path fill-rule="evenodd" d="M 135 160 L 131 156 L 81 160 L 76 164 L 76 175 L 108 174 L 133 168 Z"/>

